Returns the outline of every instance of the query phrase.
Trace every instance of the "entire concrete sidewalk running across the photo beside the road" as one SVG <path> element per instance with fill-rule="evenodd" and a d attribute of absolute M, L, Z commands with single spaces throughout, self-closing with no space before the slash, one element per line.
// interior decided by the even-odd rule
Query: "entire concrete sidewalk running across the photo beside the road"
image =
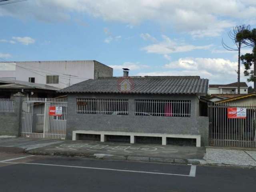
<path fill-rule="evenodd" d="M 0 152 L 256 168 L 256 149 L 0 138 Z"/>

